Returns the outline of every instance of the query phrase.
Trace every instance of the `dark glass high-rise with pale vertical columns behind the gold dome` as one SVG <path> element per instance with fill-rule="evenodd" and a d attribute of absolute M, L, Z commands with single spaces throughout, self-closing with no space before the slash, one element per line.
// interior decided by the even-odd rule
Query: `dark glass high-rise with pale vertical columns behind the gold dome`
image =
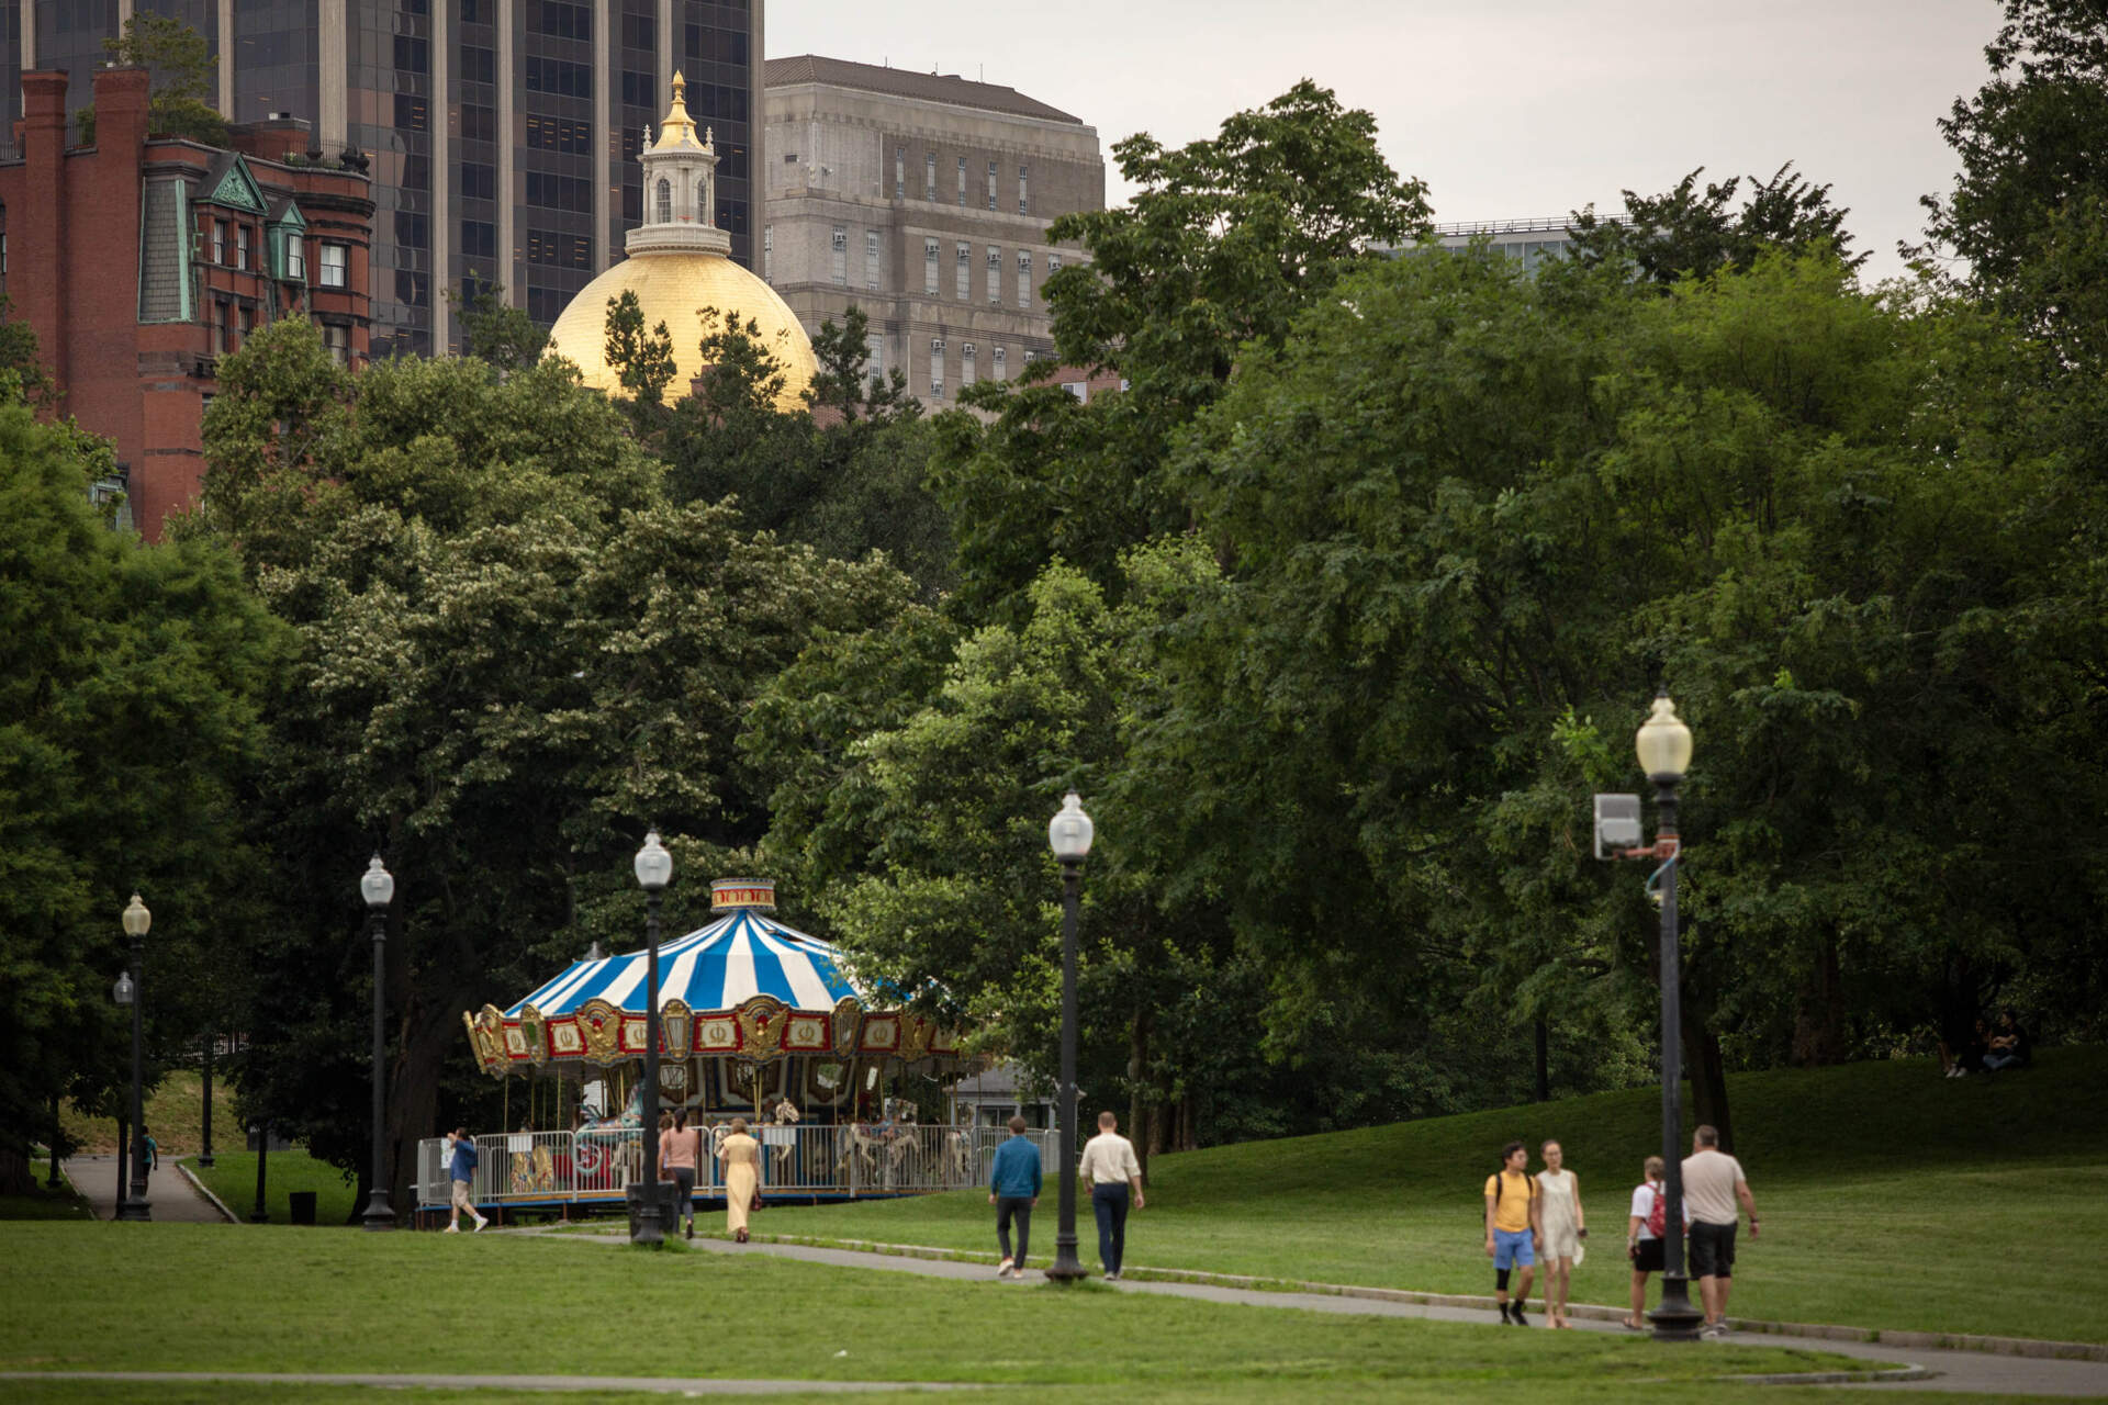
<path fill-rule="evenodd" d="M 643 217 L 637 152 L 677 67 L 755 265 L 763 0 L 0 0 L 0 61 L 70 70 L 86 105 L 135 11 L 204 34 L 230 120 L 304 118 L 316 154 L 371 158 L 375 356 L 457 348 L 449 289 L 504 284 L 552 324 Z"/>

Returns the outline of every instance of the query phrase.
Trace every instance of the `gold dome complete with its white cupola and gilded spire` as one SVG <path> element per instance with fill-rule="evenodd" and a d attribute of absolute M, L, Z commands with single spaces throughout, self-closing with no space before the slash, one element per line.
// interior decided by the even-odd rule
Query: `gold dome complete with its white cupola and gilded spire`
<path fill-rule="evenodd" d="M 717 227 L 717 141 L 708 131 L 696 141 L 683 82 L 675 74 L 672 107 L 660 139 L 639 154 L 643 166 L 643 223 L 624 236 L 628 259 L 588 282 L 548 333 L 548 354 L 578 364 L 588 385 L 622 394 L 622 379 L 607 364 L 607 303 L 624 291 L 637 295 L 645 331 L 660 322 L 672 337 L 675 379 L 668 398 L 689 392 L 702 375 L 702 310 L 721 322 L 753 322 L 761 343 L 784 369 L 778 409 L 805 409 L 803 392 L 820 367 L 805 329 L 776 289 L 731 261 L 731 236 Z"/>

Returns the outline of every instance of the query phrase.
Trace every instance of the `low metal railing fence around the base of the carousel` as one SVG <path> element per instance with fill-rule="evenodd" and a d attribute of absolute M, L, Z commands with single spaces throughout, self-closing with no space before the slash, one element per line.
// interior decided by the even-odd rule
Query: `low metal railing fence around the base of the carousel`
<path fill-rule="evenodd" d="M 1052 1131 L 1027 1131 L 1039 1146 L 1048 1173 Z M 704 1131 L 704 1165 L 696 1167 L 696 1194 L 725 1190 L 717 1146 L 725 1129 Z M 757 1127 L 763 1194 L 902 1194 L 961 1190 L 989 1180 L 995 1148 L 1010 1133 L 1001 1127 L 942 1127 L 843 1123 L 828 1127 Z M 470 1196 L 479 1205 L 523 1201 L 616 1199 L 643 1180 L 639 1129 L 508 1131 L 476 1137 Z M 417 1144 L 417 1203 L 447 1205 L 447 1144 Z"/>

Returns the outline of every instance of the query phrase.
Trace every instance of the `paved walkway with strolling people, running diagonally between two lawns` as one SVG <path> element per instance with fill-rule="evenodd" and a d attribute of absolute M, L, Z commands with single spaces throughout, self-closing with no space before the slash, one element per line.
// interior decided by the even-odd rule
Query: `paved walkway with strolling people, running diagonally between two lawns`
<path fill-rule="evenodd" d="M 584 1239 L 565 1234 L 563 1239 Z M 620 1239 L 616 1243 L 622 1243 Z M 987 1264 L 961 1264 L 953 1260 L 900 1258 L 894 1253 L 858 1253 L 854 1249 L 816 1249 L 807 1245 L 736 1245 L 723 1239 L 698 1239 L 698 1249 L 713 1253 L 767 1253 L 776 1258 L 803 1260 L 807 1264 L 835 1264 L 839 1268 L 877 1268 L 881 1272 L 913 1272 L 932 1279 L 970 1279 L 989 1285 L 991 1293 L 1018 1291 L 1020 1285 L 1046 1283 L 1046 1274 L 1027 1272 L 1024 1279 L 1003 1281 Z M 1448 1308 L 1412 1302 L 1383 1302 L 1374 1298 L 1339 1298 L 1330 1293 L 1271 1293 L 1263 1289 L 1210 1287 L 1202 1283 L 1159 1283 L 1149 1279 L 1124 1279 L 1109 1285 L 1124 1293 L 1159 1293 L 1166 1298 L 1195 1298 L 1199 1302 L 1246 1304 L 1254 1308 L 1299 1308 L 1303 1312 L 1345 1312 L 1351 1317 L 1408 1317 L 1436 1323 L 1478 1323 L 1490 1331 L 1514 1331 L 1501 1327 L 1490 1308 Z M 1533 1314 L 1533 1321 L 1543 1321 Z M 1575 1321 L 1575 1331 L 1627 1333 L 1617 1323 Z M 1880 1384 L 1853 1384 L 1851 1390 L 1969 1390 L 1982 1394 L 2057 1394 L 2057 1397 L 2102 1397 L 2108 1399 L 2108 1363 L 2104 1361 L 2053 1361 L 2032 1357 L 1994 1357 L 1990 1352 L 1935 1350 L 1910 1346 L 1885 1346 L 1880 1342 L 1828 1342 L 1817 1338 L 1792 1338 L 1781 1333 L 1733 1333 L 1729 1340 L 1745 1346 L 1804 1346 L 1809 1350 L 1836 1352 L 1866 1361 L 1868 1369 L 1885 1363 L 1906 1363 L 1933 1371 L 1931 1378 L 1899 1380 Z M 1667 1348 L 1665 1348 L 1667 1350 Z M 1678 1350 L 1705 1350 L 1693 1344 Z"/>

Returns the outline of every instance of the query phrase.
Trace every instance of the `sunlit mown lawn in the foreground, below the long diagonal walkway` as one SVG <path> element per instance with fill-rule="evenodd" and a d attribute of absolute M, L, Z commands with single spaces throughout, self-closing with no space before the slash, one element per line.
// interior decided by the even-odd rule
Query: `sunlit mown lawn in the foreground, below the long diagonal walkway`
<path fill-rule="evenodd" d="M 1646 1399 L 1663 1384 L 1689 1394 L 1720 1376 L 1844 1367 L 1811 1348 L 1663 1350 L 1625 1335 L 1210 1304 L 1102 1285 L 955 1283 L 575 1239 L 11 1224 L 0 1226 L 0 1245 L 8 1258 L 0 1369 L 8 1371 L 767 1376 L 1098 1386 L 1094 1394 L 1117 1384 L 1149 1399 L 1307 1399 L 1318 1388 L 1326 1399 L 1431 1401 L 1492 1384 L 1566 1399 L 1579 1382 L 1602 1390 L 1598 1399 Z M 13 1384 L 6 1390 L 23 1399 Z M 99 1399 L 89 1382 L 48 1390 L 61 1394 L 46 1399 Z M 213 1397 L 228 1399 L 219 1388 Z"/>

